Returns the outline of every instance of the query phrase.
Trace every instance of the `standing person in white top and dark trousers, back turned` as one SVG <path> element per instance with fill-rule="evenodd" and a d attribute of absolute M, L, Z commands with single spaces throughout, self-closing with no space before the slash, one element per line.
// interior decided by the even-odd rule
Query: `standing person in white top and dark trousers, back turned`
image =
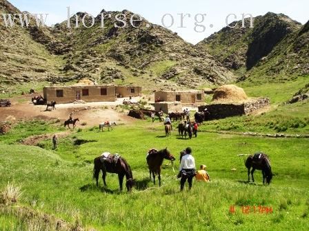
<path fill-rule="evenodd" d="M 188 179 L 189 190 L 192 188 L 192 179 L 195 177 L 195 158 L 191 155 L 192 149 L 190 147 L 186 148 L 186 155 L 183 155 L 181 158 L 181 163 L 179 167 L 179 176 L 180 180 L 180 190 L 183 190 L 183 187 Z"/>

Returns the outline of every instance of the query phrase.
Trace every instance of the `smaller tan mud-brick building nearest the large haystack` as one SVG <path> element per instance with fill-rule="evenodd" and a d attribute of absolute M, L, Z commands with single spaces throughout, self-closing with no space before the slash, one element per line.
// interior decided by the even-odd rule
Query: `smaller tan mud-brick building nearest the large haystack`
<path fill-rule="evenodd" d="M 205 102 L 204 91 L 156 91 L 156 102 L 181 102 L 183 104 L 198 104 Z"/>

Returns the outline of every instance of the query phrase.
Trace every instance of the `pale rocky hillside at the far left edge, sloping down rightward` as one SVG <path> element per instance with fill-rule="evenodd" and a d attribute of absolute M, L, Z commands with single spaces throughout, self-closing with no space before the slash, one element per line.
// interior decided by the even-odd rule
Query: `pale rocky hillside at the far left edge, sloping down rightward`
<path fill-rule="evenodd" d="M 5 0 L 0 0 L 0 12 L 21 13 Z M 45 79 L 50 74 L 56 75 L 59 73 L 59 67 L 63 65 L 63 61 L 35 42 L 30 30 L 21 28 L 20 24 L 6 28 L 1 18 L 0 40 L 1 88 L 6 84 L 30 83 Z"/>

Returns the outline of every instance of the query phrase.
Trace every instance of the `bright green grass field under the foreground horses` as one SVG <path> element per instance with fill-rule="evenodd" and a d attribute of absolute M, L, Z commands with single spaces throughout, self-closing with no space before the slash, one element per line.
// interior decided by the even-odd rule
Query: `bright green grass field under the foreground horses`
<path fill-rule="evenodd" d="M 52 151 L 50 140 L 39 146 L 23 146 L 19 140 L 29 135 L 61 130 L 41 123 L 25 135 L 32 124 L 19 124 L 0 136 L 0 188 L 8 182 L 22 190 L 19 205 L 53 215 L 83 228 L 95 230 L 308 230 L 308 140 L 260 138 L 216 133 L 199 133 L 182 140 L 176 134 L 163 137 L 159 124 L 149 121 L 118 126 L 114 131 L 97 133 L 84 129 L 72 133 Z M 179 192 L 175 173 L 163 162 L 161 188 L 152 188 L 148 179 L 146 152 L 165 148 L 178 159 L 179 152 L 191 146 L 197 165 L 206 164 L 212 181 L 194 181 L 189 192 Z M 117 175 L 108 174 L 108 188 L 97 188 L 92 179 L 92 161 L 103 151 L 125 157 L 137 188 L 119 192 Z M 262 185 L 256 171 L 256 184 L 246 184 L 246 168 L 240 153 L 268 153 L 273 177 Z M 231 170 L 236 168 L 236 170 Z M 100 183 L 102 181 L 100 179 Z M 147 190 L 147 188 L 149 188 Z M 235 206 L 235 212 L 230 212 Z M 242 206 L 264 206 L 272 213 L 243 214 Z M 1 206 L 0 206 L 1 208 Z M 16 212 L 0 209 L 0 230 L 31 230 L 33 221 Z M 10 211 L 10 210 L 9 210 Z M 46 228 L 45 228 L 46 229 Z M 52 228 L 50 228 L 52 230 Z"/>

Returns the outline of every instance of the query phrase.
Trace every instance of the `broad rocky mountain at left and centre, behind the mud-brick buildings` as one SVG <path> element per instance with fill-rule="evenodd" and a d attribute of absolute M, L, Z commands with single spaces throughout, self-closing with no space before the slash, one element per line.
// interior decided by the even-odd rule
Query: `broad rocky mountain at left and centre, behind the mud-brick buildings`
<path fill-rule="evenodd" d="M 6 0 L 0 0 L 0 5 L 1 12 L 19 12 Z M 52 82 L 90 78 L 98 83 L 191 88 L 236 79 L 207 52 L 201 52 L 166 28 L 146 20 L 134 28 L 130 25 L 133 13 L 128 10 L 101 13 L 112 15 L 104 20 L 106 28 L 100 28 L 100 14 L 91 28 L 83 26 L 81 19 L 86 12 L 77 13 L 79 28 L 74 27 L 74 16 L 70 19 L 71 28 L 67 28 L 67 21 L 54 28 L 31 24 L 29 28 L 16 25 L 12 30 L 1 25 L 2 39 L 6 40 L 0 49 L 6 51 L 11 47 L 10 52 L 0 56 L 1 65 L 6 66 L 0 70 L 1 81 L 45 76 Z M 121 13 L 128 25 L 114 27 L 115 15 Z M 91 17 L 85 19 L 86 25 L 91 25 Z"/>

